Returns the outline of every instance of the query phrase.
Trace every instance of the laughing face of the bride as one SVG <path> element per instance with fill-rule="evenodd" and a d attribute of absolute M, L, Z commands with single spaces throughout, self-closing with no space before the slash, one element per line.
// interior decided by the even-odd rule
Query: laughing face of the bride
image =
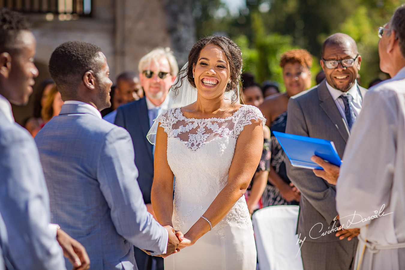
<path fill-rule="evenodd" d="M 208 44 L 201 51 L 193 66 L 194 83 L 198 93 L 211 99 L 225 93 L 229 79 L 228 59 L 222 49 Z"/>

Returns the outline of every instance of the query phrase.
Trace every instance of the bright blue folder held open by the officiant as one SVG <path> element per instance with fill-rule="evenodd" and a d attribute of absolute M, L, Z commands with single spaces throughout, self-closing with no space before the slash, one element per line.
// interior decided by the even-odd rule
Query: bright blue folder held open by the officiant
<path fill-rule="evenodd" d="M 335 145 L 330 140 L 322 140 L 293 134 L 273 131 L 274 136 L 283 147 L 291 165 L 306 169 L 319 169 L 322 167 L 312 162 L 311 157 L 317 155 L 331 164 L 340 166 L 342 161 L 337 154 Z"/>

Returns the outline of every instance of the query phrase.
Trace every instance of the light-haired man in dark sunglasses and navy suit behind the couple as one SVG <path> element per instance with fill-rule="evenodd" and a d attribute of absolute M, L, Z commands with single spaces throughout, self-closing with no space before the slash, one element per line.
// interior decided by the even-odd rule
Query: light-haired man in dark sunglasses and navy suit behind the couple
<path fill-rule="evenodd" d="M 141 58 L 138 70 L 145 96 L 118 107 L 115 125 L 125 128 L 131 135 L 135 164 L 139 170 L 137 180 L 147 210 L 154 216 L 151 204 L 154 148 L 147 141 L 146 134 L 153 124 L 153 119 L 161 110 L 167 109 L 168 100 L 164 100 L 176 79 L 179 67 L 169 48 L 157 48 Z M 135 260 L 139 269 L 163 270 L 163 258 L 149 256 L 137 248 Z"/>

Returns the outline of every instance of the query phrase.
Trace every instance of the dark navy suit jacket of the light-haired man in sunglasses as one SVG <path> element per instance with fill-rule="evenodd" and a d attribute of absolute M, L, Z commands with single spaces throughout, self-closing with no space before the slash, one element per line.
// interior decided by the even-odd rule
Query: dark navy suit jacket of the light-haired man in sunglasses
<path fill-rule="evenodd" d="M 135 165 L 138 168 L 138 184 L 141 188 L 145 204 L 151 203 L 153 182 L 152 145 L 147 140 L 149 131 L 149 116 L 146 98 L 141 98 L 117 108 L 115 125 L 128 130 L 135 151 Z"/>

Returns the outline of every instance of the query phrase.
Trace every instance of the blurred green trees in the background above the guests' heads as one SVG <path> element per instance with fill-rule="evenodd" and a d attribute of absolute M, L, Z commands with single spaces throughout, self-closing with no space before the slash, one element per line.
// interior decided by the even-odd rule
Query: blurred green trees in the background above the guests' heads
<path fill-rule="evenodd" d="M 362 85 L 379 70 L 377 28 L 386 23 L 403 0 L 246 0 L 246 7 L 232 15 L 220 0 L 194 0 L 202 14 L 196 18 L 198 37 L 224 34 L 243 51 L 245 71 L 261 82 L 282 82 L 279 56 L 293 47 L 314 55 L 313 77 L 320 70 L 322 43 L 336 32 L 356 40 L 362 55 Z M 193 13 L 194 14 L 194 13 Z"/>

